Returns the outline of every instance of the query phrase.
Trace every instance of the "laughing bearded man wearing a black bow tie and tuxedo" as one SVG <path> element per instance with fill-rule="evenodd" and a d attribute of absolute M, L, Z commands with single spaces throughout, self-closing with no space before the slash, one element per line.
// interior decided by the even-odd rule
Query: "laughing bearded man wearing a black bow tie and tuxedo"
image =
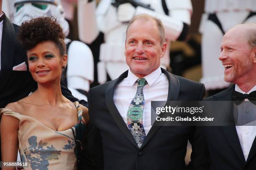
<path fill-rule="evenodd" d="M 226 32 L 219 59 L 225 67 L 224 80 L 234 84 L 205 100 L 236 101 L 226 109 L 232 110 L 232 116 L 233 111 L 244 111 L 234 114 L 233 120 L 254 115 L 256 102 L 243 101 L 256 101 L 256 24 L 237 25 Z M 238 126 L 235 122 L 233 126 L 204 128 L 212 170 L 256 169 L 256 126 Z"/>

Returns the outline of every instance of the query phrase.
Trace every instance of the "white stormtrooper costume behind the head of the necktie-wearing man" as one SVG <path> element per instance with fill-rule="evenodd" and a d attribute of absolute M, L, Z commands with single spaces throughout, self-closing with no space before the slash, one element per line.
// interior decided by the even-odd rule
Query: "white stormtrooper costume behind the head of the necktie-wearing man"
<path fill-rule="evenodd" d="M 104 34 L 104 43 L 100 45 L 100 62 L 97 64 L 99 83 L 106 82 L 107 74 L 114 80 L 128 70 L 124 56 L 125 31 L 133 16 L 147 13 L 163 22 L 167 49 L 161 58 L 161 67 L 166 69 L 170 64 L 170 43 L 185 37 L 192 15 L 190 0 L 132 0 L 146 7 L 128 3 L 127 0 L 121 0 L 123 2 L 119 5 L 115 5 L 118 0 L 101 0 L 97 8 L 95 0 L 89 1 L 78 1 L 79 38 L 91 44 L 100 32 Z"/>

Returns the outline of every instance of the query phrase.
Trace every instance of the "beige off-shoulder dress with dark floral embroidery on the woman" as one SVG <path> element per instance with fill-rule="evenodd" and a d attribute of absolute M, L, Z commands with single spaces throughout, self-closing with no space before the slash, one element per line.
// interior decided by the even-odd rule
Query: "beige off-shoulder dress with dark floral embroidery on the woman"
<path fill-rule="evenodd" d="M 29 167 L 25 170 L 77 169 L 76 156 L 80 151 L 85 121 L 79 103 L 74 102 L 74 104 L 77 108 L 78 122 L 64 131 L 54 131 L 33 117 L 20 115 L 13 110 L 0 109 L 0 115 L 9 115 L 20 120 L 18 131 L 20 159 L 29 163 Z"/>

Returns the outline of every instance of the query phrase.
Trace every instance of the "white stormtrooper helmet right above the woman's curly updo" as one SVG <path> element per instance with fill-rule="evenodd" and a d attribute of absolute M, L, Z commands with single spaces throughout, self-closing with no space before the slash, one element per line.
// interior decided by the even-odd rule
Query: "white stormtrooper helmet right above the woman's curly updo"
<path fill-rule="evenodd" d="M 15 0 L 13 23 L 20 25 L 23 21 L 39 16 L 54 16 L 63 28 L 67 37 L 69 24 L 64 19 L 64 10 L 59 0 Z"/>

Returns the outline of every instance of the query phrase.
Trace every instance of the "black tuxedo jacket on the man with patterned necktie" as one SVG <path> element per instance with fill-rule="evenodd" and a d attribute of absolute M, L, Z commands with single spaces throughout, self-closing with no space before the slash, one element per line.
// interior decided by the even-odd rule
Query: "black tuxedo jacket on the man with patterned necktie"
<path fill-rule="evenodd" d="M 203 84 L 162 72 L 169 81 L 168 100 L 202 100 Z M 127 77 L 93 87 L 89 91 L 90 123 L 85 140 L 84 170 L 207 170 L 207 146 L 202 133 L 189 126 L 152 126 L 138 148 L 113 101 L 114 88 Z M 185 165 L 187 141 L 192 143 L 192 161 Z"/>

